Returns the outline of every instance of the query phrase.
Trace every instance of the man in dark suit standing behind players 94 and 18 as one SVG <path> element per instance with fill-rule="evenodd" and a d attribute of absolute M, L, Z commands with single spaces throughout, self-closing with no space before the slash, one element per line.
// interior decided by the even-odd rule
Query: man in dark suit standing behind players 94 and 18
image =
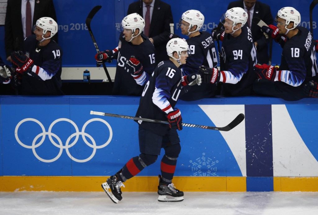
<path fill-rule="evenodd" d="M 260 27 L 252 22 L 253 17 L 258 17 L 267 25 L 273 24 L 273 16 L 270 6 L 256 0 L 239 0 L 229 3 L 227 9 L 241 7 L 248 13 L 248 26 L 252 31 L 253 41 L 257 49 L 257 61 L 259 64 L 268 64 L 268 42 Z"/>

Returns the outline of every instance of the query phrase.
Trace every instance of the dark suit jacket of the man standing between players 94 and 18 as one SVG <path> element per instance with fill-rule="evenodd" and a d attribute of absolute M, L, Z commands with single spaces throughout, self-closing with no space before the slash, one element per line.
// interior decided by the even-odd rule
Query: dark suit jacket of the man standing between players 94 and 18
<path fill-rule="evenodd" d="M 227 9 L 231 9 L 234 7 L 241 7 L 244 9 L 244 3 L 243 0 L 235 1 L 229 3 L 229 6 Z M 271 8 L 269 5 L 261 3 L 259 1 L 255 2 L 254 12 L 253 12 L 253 18 L 258 17 L 261 20 L 263 20 L 266 24 L 273 24 L 274 19 L 271 13 Z M 247 24 L 247 23 L 246 23 Z M 252 22 L 252 36 L 254 42 L 257 42 L 257 61 L 259 64 L 268 64 L 268 42 L 269 40 L 265 38 L 264 33 L 261 31 L 260 27 Z"/>

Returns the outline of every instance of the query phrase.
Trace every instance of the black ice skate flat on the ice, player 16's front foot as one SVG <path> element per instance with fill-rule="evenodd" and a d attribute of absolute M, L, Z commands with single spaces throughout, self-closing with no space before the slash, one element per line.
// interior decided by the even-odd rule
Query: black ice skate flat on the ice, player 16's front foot
<path fill-rule="evenodd" d="M 183 201 L 183 191 L 179 191 L 174 184 L 165 184 L 162 182 L 161 175 L 159 177 L 158 201 L 159 202 L 181 202 Z"/>

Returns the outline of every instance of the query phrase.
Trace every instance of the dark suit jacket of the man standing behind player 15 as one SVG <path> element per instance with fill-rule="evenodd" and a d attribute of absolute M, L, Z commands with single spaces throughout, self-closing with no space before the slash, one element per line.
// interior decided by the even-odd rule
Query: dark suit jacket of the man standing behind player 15
<path fill-rule="evenodd" d="M 142 1 L 129 4 L 127 15 L 132 13 L 138 13 L 143 17 Z M 173 23 L 171 6 L 161 0 L 156 0 L 149 29 L 149 38 L 154 40 L 156 48 L 156 63 L 169 59 L 166 45 L 170 39 L 168 37 L 170 34 L 170 23 Z"/>

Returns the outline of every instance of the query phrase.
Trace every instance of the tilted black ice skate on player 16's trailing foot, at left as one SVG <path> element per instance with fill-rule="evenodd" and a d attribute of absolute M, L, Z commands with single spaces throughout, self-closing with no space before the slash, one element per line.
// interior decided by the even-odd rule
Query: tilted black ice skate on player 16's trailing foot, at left
<path fill-rule="evenodd" d="M 118 201 L 122 199 L 121 186 L 125 187 L 125 185 L 118 179 L 117 174 L 108 178 L 107 181 L 101 185 L 106 194 L 114 203 L 118 203 Z M 111 192 L 109 192 L 109 189 Z"/>

